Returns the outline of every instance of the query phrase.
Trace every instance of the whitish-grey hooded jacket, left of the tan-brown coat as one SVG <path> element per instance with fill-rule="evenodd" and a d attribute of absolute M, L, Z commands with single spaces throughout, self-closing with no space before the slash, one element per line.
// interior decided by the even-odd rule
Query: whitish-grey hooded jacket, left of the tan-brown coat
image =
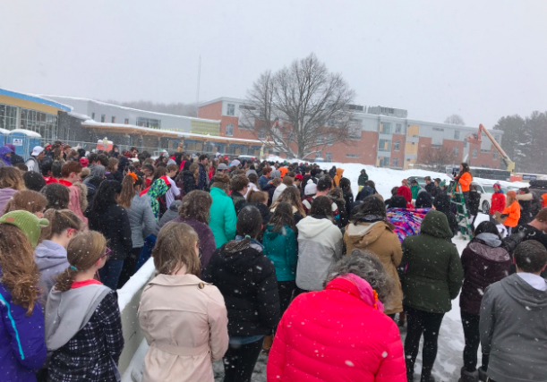
<path fill-rule="evenodd" d="M 296 285 L 321 291 L 329 267 L 342 258 L 342 233 L 328 218 L 304 217 L 297 225 Z"/>

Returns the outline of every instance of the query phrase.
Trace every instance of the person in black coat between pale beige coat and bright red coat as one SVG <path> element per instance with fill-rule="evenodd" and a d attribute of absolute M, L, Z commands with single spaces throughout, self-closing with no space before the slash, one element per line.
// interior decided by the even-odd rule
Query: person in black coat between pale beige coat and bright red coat
<path fill-rule="evenodd" d="M 262 227 L 260 211 L 243 208 L 235 226 L 235 240 L 213 253 L 203 280 L 217 285 L 228 310 L 230 341 L 222 359 L 224 381 L 250 382 L 263 337 L 278 325 L 278 283 L 273 263 L 256 241 Z"/>

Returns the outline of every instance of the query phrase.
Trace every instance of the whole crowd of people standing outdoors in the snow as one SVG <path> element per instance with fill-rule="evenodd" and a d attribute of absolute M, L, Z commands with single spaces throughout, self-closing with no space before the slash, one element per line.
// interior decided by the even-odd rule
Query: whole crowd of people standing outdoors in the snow
<path fill-rule="evenodd" d="M 462 382 L 547 375 L 547 208 L 525 207 L 526 190 L 497 187 L 460 258 L 440 179 L 405 179 L 384 200 L 364 169 L 354 196 L 336 166 L 62 142 L 27 161 L 13 151 L 0 148 L 2 380 L 119 381 L 115 291 L 150 257 L 145 382 L 213 381 L 219 360 L 226 382 L 251 381 L 261 352 L 269 381 L 411 382 L 422 337 L 431 382 L 458 295 Z"/>

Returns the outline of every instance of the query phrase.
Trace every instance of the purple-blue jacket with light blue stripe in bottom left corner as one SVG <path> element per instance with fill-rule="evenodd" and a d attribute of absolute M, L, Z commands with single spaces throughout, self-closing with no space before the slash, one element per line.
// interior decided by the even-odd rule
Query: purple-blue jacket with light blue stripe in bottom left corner
<path fill-rule="evenodd" d="M 0 283 L 0 375 L 3 382 L 35 382 L 36 370 L 46 361 L 44 315 L 39 302 L 32 314 L 13 302 Z"/>

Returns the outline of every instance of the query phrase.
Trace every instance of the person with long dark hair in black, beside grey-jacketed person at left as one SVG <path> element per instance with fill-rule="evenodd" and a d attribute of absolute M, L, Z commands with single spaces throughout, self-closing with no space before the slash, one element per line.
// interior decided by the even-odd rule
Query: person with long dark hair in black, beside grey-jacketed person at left
<path fill-rule="evenodd" d="M 124 259 L 132 251 L 132 233 L 127 211 L 115 201 L 120 192 L 122 184 L 119 182 L 100 183 L 93 204 L 86 211 L 90 230 L 98 231 L 107 238 L 111 251 L 105 266 L 98 270 L 98 276 L 101 283 L 114 291 L 124 267 Z"/>

